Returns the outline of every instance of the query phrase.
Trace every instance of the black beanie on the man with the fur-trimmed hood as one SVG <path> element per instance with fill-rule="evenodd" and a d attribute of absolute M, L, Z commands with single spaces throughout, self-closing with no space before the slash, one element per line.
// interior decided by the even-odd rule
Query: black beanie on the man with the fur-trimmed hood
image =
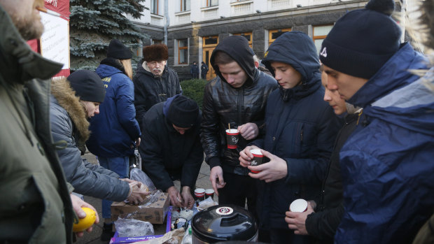
<path fill-rule="evenodd" d="M 106 96 L 106 89 L 101 78 L 94 71 L 80 70 L 71 73 L 66 78 L 71 88 L 80 96 L 80 100 L 102 103 Z"/>

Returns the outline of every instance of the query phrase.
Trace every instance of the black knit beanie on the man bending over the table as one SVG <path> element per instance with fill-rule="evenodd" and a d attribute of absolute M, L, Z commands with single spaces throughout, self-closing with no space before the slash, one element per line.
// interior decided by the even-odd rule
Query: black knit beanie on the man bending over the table
<path fill-rule="evenodd" d="M 193 127 L 199 115 L 197 103 L 186 96 L 176 96 L 170 103 L 167 111 L 167 119 L 176 125 L 176 127 L 189 128 Z"/>

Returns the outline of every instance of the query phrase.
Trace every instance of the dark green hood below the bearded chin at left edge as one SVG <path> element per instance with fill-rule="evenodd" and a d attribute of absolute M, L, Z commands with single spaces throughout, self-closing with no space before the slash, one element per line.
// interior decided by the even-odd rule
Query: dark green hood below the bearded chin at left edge
<path fill-rule="evenodd" d="M 62 69 L 62 64 L 45 59 L 31 50 L 1 7 L 0 22 L 0 70 L 6 82 L 24 84 L 33 78 L 46 80 Z"/>

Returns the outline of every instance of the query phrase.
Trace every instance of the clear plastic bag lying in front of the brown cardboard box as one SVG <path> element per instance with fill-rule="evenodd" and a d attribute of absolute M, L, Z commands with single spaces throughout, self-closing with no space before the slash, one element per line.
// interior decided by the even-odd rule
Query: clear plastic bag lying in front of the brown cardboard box
<path fill-rule="evenodd" d="M 150 222 L 118 218 L 115 221 L 119 237 L 153 236 L 154 227 Z"/>

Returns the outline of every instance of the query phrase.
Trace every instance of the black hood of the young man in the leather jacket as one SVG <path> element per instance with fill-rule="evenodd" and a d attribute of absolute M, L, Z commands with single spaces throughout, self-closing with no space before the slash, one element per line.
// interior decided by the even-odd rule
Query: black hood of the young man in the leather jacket
<path fill-rule="evenodd" d="M 223 78 L 220 69 L 218 69 L 218 65 L 216 65 L 214 62 L 216 52 L 218 51 L 225 52 L 232 59 L 234 59 L 235 62 L 237 62 L 244 72 L 246 72 L 248 79 L 243 86 L 249 87 L 253 84 L 253 80 L 255 80 L 255 73 L 258 71 L 255 69 L 255 62 L 253 61 L 254 54 L 252 53 L 251 48 L 248 45 L 242 45 L 242 43 L 246 41 L 246 38 L 242 36 L 230 36 L 229 38 L 226 38 L 224 42 L 219 43 L 214 49 L 210 59 L 211 66 L 213 66 L 214 71 L 216 71 L 216 75 L 224 82 L 227 81 L 225 78 Z"/>

